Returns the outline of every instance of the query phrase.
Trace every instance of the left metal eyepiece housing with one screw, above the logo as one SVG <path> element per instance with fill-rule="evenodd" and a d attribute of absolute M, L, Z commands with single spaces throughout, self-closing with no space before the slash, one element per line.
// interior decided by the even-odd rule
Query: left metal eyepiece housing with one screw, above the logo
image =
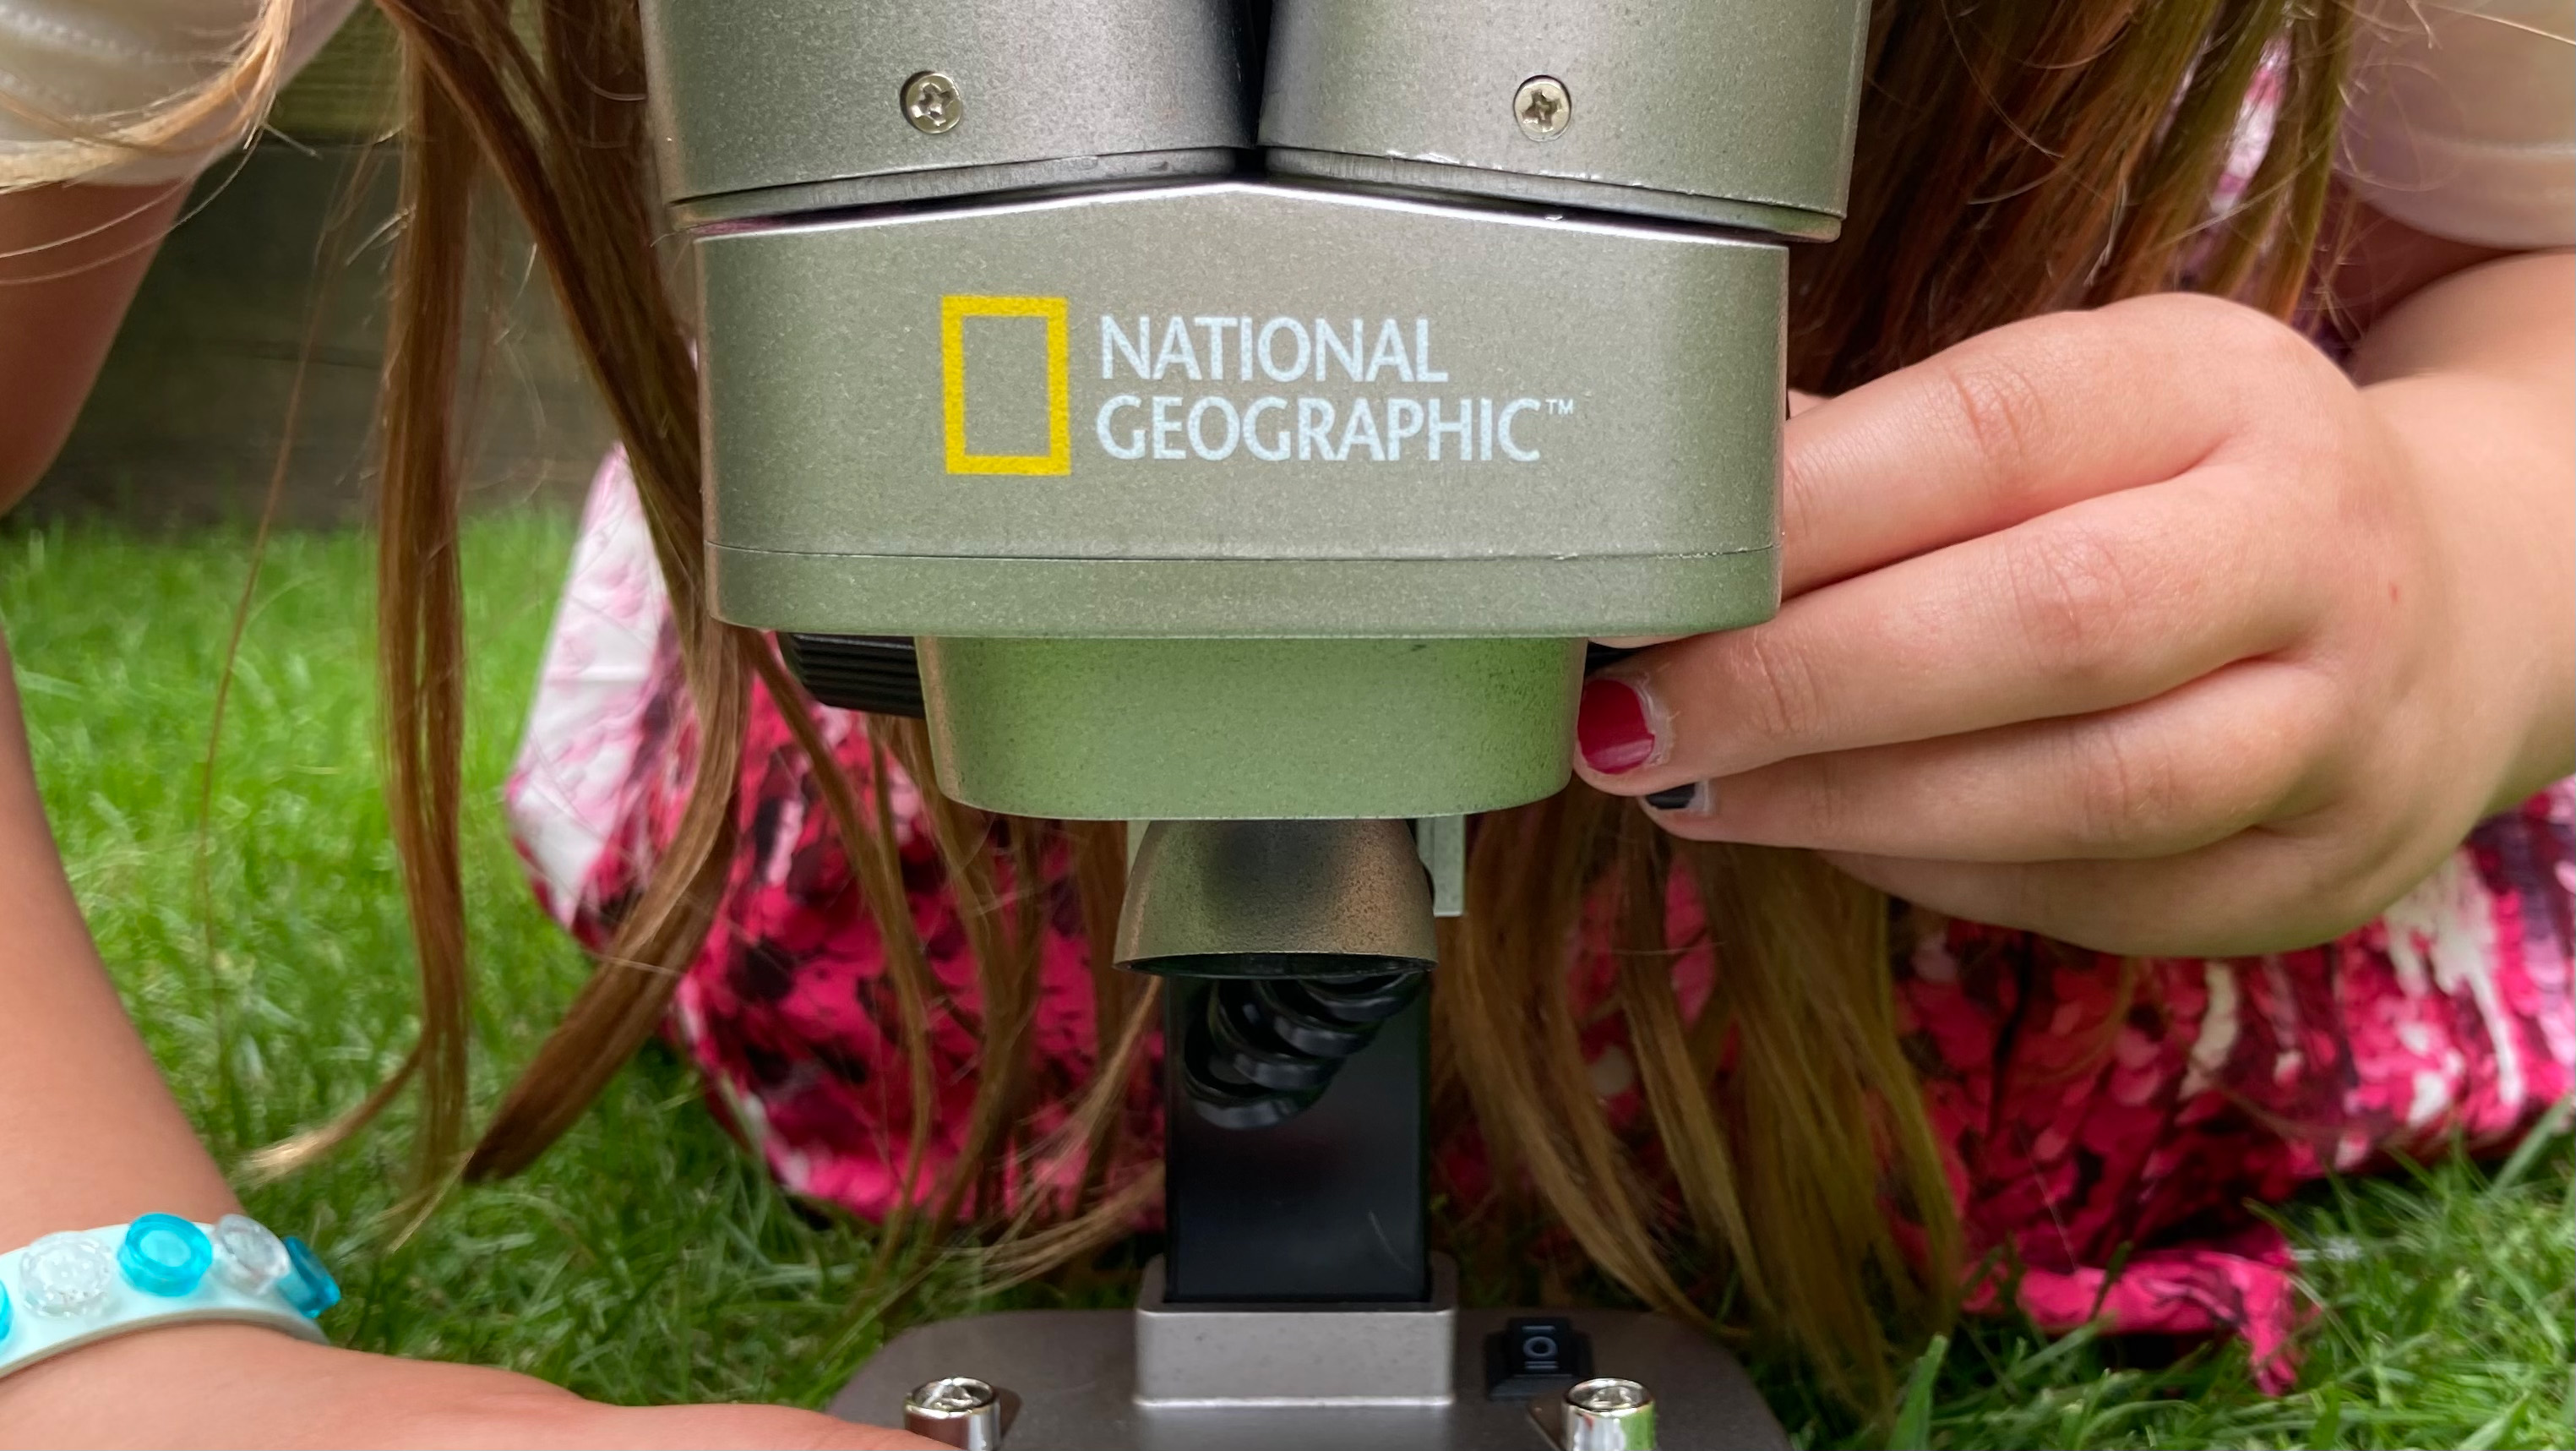
<path fill-rule="evenodd" d="M 644 54 L 670 201 L 1249 144 L 1226 0 L 644 0 Z M 933 70 L 948 131 L 904 116 Z"/>

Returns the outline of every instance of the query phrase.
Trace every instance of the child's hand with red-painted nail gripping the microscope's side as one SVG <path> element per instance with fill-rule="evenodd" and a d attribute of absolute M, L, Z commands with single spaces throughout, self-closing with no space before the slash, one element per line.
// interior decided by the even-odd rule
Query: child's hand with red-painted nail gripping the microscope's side
<path fill-rule="evenodd" d="M 1788 606 L 1592 680 L 1582 773 L 2105 951 L 2324 941 L 2537 786 L 2558 590 L 2429 474 L 2251 309 L 2002 327 L 1790 423 Z"/>

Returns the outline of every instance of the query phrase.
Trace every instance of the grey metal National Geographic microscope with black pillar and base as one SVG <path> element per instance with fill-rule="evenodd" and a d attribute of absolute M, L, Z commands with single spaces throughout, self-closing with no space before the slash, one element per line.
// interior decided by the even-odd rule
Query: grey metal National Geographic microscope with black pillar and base
<path fill-rule="evenodd" d="M 1587 642 L 1777 608 L 1788 242 L 1865 0 L 644 0 L 701 307 L 714 608 L 1128 822 L 1164 979 L 1133 1309 L 917 1327 L 953 1446 L 1785 1446 L 1705 1335 L 1471 1309 L 1425 1240 L 1466 817 L 1558 791 Z"/>

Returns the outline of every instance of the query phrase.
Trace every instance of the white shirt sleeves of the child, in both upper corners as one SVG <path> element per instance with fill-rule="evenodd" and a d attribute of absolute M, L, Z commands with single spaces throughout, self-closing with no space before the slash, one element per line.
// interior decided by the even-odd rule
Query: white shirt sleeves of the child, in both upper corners
<path fill-rule="evenodd" d="M 289 72 L 355 0 L 294 3 Z M 2576 0 L 2360 5 L 2342 157 L 2352 186 L 2380 211 L 2463 242 L 2576 245 Z M 0 183 L 13 160 L 59 155 L 59 131 L 28 113 L 93 126 L 142 113 L 216 75 L 258 13 L 260 0 L 0 0 Z M 245 111 L 193 129 L 180 155 L 93 155 L 82 175 L 193 175 L 258 121 Z"/>

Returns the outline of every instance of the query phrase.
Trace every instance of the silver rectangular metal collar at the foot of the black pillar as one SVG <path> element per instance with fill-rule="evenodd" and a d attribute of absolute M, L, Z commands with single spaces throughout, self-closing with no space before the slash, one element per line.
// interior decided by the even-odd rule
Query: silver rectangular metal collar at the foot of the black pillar
<path fill-rule="evenodd" d="M 1458 1392 L 1458 1265 L 1432 1255 L 1422 1304 L 1172 1304 L 1162 1260 L 1136 1289 L 1136 1402 L 1149 1410 L 1443 1405 Z"/>

